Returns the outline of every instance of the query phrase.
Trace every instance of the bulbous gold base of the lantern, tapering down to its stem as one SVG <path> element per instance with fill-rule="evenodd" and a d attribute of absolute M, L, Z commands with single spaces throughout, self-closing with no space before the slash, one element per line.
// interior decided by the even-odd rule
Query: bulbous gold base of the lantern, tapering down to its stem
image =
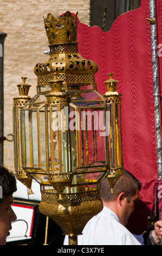
<path fill-rule="evenodd" d="M 57 196 L 59 198 L 59 195 Z M 58 200 L 43 202 L 42 200 L 39 209 L 43 215 L 55 221 L 65 235 L 73 237 L 82 234 L 87 222 L 102 210 L 103 204 L 99 197 L 92 199 L 92 192 L 75 193 L 75 196 L 74 194 L 63 194 L 63 197 L 67 198 L 67 196 L 70 199 L 62 200 L 62 202 L 58 202 Z"/>

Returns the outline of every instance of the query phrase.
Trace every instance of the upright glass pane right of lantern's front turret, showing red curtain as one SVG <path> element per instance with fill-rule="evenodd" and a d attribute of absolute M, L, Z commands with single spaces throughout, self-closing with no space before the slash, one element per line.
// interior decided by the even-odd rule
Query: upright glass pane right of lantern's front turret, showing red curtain
<path fill-rule="evenodd" d="M 108 164 L 105 110 L 70 108 L 71 132 L 77 143 L 76 166 L 90 166 L 95 162 Z"/>

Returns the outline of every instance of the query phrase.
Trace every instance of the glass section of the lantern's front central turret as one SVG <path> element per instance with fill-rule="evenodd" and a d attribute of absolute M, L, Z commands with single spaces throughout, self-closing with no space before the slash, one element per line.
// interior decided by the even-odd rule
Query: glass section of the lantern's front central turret
<path fill-rule="evenodd" d="M 67 173 L 74 168 L 75 137 L 68 130 L 68 109 L 63 104 L 46 105 L 49 173 Z"/>

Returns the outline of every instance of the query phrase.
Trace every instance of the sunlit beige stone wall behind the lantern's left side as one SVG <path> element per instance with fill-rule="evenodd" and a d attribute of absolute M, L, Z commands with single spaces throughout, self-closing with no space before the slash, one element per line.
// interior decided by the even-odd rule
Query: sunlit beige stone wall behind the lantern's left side
<path fill-rule="evenodd" d="M 28 77 L 32 87 L 29 96 L 36 94 L 37 77 L 34 66 L 48 59 L 48 40 L 43 16 L 60 15 L 65 11 L 79 12 L 80 22 L 89 25 L 90 0 L 0 0 L 0 32 L 7 33 L 4 42 L 4 136 L 12 133 L 13 98 L 18 95 L 17 84 Z M 14 143 L 4 141 L 4 166 L 14 170 Z"/>

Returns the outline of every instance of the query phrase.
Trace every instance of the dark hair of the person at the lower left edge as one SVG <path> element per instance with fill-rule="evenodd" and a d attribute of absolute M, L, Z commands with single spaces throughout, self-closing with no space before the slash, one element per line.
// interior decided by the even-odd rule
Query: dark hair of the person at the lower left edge
<path fill-rule="evenodd" d="M 0 186 L 2 187 L 3 198 L 11 196 L 17 191 L 16 178 L 14 173 L 0 164 Z M 0 202 L 3 200 L 0 198 Z"/>

